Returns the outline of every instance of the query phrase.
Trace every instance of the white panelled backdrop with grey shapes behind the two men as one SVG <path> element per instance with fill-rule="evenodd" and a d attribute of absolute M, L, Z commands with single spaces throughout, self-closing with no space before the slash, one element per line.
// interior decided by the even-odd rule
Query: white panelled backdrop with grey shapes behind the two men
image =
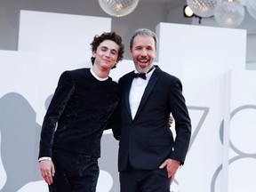
<path fill-rule="evenodd" d="M 1 191 L 47 191 L 36 161 L 45 106 L 60 73 L 90 67 L 92 37 L 110 30 L 108 18 L 20 12 L 18 52 L 0 51 Z M 160 23 L 156 33 L 158 64 L 180 77 L 193 125 L 172 192 L 255 191 L 256 74 L 244 70 L 246 31 Z M 118 80 L 132 69 L 132 60 L 123 60 L 110 76 Z M 111 132 L 101 146 L 97 191 L 116 192 L 117 142 Z"/>

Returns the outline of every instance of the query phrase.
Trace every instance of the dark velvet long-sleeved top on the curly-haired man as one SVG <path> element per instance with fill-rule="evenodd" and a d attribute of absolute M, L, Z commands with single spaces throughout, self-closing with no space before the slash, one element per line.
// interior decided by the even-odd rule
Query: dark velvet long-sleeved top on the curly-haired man
<path fill-rule="evenodd" d="M 119 94 L 116 82 L 97 80 L 89 68 L 65 71 L 44 116 L 39 157 L 52 156 L 52 148 L 100 157 L 101 135 Z"/>

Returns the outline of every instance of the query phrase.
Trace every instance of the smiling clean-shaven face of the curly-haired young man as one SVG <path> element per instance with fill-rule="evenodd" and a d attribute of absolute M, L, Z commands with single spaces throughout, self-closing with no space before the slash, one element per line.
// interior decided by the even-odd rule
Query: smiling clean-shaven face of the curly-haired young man
<path fill-rule="evenodd" d="M 117 63 L 119 45 L 111 40 L 104 40 L 97 48 L 96 52 L 92 52 L 95 58 L 94 65 L 100 68 L 113 68 Z"/>

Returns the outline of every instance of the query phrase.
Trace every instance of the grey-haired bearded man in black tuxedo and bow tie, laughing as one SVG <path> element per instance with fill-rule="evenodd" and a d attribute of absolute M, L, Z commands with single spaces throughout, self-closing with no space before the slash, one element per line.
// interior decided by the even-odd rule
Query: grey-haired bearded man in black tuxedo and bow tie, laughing
<path fill-rule="evenodd" d="M 170 184 L 184 164 L 191 136 L 188 108 L 180 79 L 154 64 L 156 34 L 136 30 L 130 41 L 135 65 L 119 79 L 120 128 L 113 129 L 119 141 L 118 171 L 121 192 L 170 192 Z M 169 126 L 175 122 L 176 137 Z"/>

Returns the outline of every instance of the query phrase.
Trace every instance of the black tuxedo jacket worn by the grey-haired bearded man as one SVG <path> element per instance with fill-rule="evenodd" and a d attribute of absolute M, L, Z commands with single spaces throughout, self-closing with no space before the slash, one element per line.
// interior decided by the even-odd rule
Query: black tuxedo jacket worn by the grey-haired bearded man
<path fill-rule="evenodd" d="M 119 141 L 118 170 L 124 171 L 128 160 L 137 169 L 153 170 L 167 158 L 185 161 L 191 136 L 188 108 L 182 95 L 180 80 L 156 66 L 140 100 L 137 114 L 132 119 L 129 93 L 132 73 L 119 79 L 122 87 L 120 100 L 121 130 L 114 135 Z M 169 116 L 175 120 L 176 137 L 168 125 Z"/>

